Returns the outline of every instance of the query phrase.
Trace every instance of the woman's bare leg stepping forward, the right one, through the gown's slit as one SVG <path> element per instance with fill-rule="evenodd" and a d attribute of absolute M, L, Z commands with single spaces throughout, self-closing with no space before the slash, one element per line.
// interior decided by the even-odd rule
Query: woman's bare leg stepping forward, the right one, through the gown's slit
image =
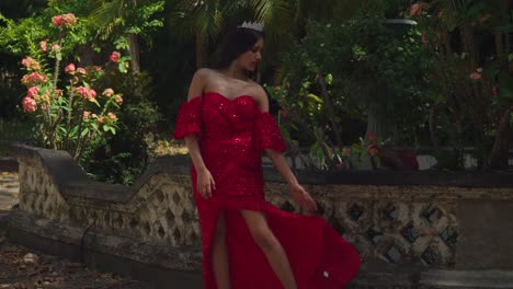
<path fill-rule="evenodd" d="M 282 281 L 283 287 L 285 289 L 296 289 L 296 280 L 285 250 L 274 236 L 271 228 L 269 228 L 265 216 L 261 211 L 242 210 L 240 212 L 244 217 L 254 241 L 267 257 L 267 262 L 276 273 L 280 281 Z"/>

